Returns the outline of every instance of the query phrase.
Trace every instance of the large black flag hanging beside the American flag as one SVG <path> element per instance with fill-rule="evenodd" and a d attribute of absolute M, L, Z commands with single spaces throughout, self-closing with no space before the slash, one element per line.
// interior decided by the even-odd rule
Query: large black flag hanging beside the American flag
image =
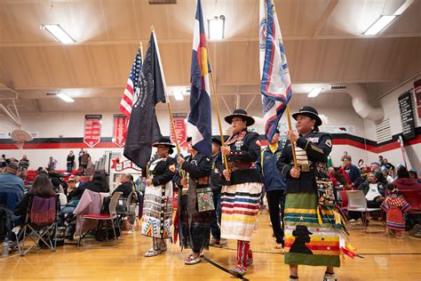
<path fill-rule="evenodd" d="M 160 101 L 166 101 L 154 34 L 151 34 L 147 46 L 138 88 L 134 90 L 133 100 L 136 101 L 131 109 L 123 155 L 134 164 L 144 168 L 151 157 L 152 143 L 162 137 L 156 119 L 155 105 Z"/>

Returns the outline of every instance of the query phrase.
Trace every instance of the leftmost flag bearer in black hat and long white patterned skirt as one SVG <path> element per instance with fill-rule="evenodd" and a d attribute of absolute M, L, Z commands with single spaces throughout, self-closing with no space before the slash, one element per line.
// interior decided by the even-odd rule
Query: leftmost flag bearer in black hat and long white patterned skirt
<path fill-rule="evenodd" d="M 157 149 L 158 158 L 149 163 L 143 204 L 142 234 L 153 238 L 153 246 L 145 253 L 146 257 L 167 251 L 165 239 L 171 238 L 172 224 L 171 180 L 176 173 L 175 159 L 170 157 L 175 147 L 171 140 L 162 138 L 152 146 Z"/>

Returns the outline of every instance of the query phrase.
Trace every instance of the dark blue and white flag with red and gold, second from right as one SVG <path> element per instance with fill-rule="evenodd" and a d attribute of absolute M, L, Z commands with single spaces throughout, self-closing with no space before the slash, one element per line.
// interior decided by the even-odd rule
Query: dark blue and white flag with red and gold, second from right
<path fill-rule="evenodd" d="M 210 73 L 202 4 L 197 0 L 190 77 L 190 114 L 187 121 L 191 124 L 189 130 L 191 130 L 192 145 L 207 157 L 211 157 L 212 151 Z"/>

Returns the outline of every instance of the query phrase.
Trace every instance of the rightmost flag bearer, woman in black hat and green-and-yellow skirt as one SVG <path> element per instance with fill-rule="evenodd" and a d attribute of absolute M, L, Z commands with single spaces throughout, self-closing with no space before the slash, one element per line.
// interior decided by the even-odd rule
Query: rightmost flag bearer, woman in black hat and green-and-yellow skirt
<path fill-rule="evenodd" d="M 326 266 L 324 280 L 336 280 L 334 267 L 340 266 L 340 260 L 339 251 L 334 249 L 339 247 L 339 229 L 333 229 L 330 223 L 314 228 L 314 222 L 318 221 L 316 178 L 328 177 L 326 164 L 332 149 L 332 136 L 330 133 L 319 132 L 322 119 L 315 108 L 302 107 L 292 117 L 297 120 L 298 132 L 288 131 L 288 141 L 277 163 L 279 171 L 286 178 L 285 237 L 294 236 L 292 229 L 298 230 L 299 222 L 299 229 L 313 228 L 308 231 L 308 235 L 312 235 L 310 239 L 318 237 L 318 245 L 325 246 L 326 250 L 314 250 L 313 255 L 293 253 L 293 245 L 285 243 L 284 261 L 290 265 L 290 280 L 298 279 L 298 264 Z M 293 164 L 291 142 L 295 143 L 297 167 Z M 323 238 L 322 233 L 325 232 L 333 235 L 329 243 Z M 311 249 L 309 242 L 306 246 Z M 331 247 L 332 242 L 335 243 L 334 247 Z"/>

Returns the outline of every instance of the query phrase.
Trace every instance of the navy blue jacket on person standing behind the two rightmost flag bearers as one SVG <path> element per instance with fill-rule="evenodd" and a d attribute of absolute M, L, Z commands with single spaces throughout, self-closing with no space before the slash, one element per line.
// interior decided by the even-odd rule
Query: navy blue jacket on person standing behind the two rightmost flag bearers
<path fill-rule="evenodd" d="M 278 144 L 278 149 L 274 153 L 267 147 L 263 149 L 256 162 L 258 171 L 263 176 L 263 183 L 265 185 L 265 191 L 273 190 L 285 190 L 285 178 L 279 172 L 277 167 L 278 159 L 281 157 L 282 145 L 281 142 Z M 263 157 L 263 161 L 262 161 Z M 262 167 L 263 165 L 263 167 Z"/>

